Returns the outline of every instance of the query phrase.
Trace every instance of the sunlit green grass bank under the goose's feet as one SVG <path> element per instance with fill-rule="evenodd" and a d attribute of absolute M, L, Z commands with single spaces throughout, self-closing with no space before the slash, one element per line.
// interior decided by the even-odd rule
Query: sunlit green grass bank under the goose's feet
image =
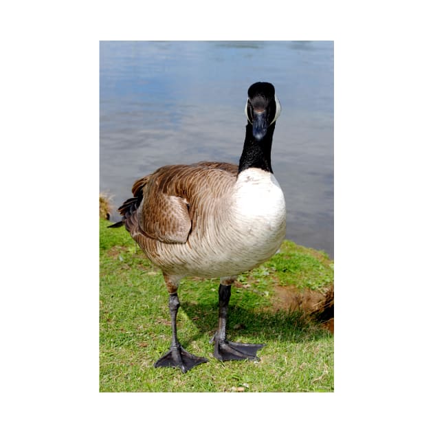
<path fill-rule="evenodd" d="M 171 339 L 168 294 L 159 269 L 124 228 L 100 221 L 101 392 L 333 392 L 333 335 L 300 311 L 275 308 L 274 288 L 324 291 L 333 282 L 326 254 L 285 241 L 269 262 L 232 287 L 227 337 L 265 343 L 260 362 L 219 362 L 210 337 L 218 323 L 219 280 L 184 278 L 178 335 L 209 359 L 188 373 L 154 368 Z"/>

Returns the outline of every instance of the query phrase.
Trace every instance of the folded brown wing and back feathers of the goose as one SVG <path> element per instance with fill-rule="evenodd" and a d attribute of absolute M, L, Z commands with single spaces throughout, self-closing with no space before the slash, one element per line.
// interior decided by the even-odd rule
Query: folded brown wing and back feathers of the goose
<path fill-rule="evenodd" d="M 164 166 L 138 179 L 132 188 L 134 197 L 119 208 L 126 230 L 142 247 L 148 245 L 146 238 L 186 243 L 193 230 L 199 197 L 221 195 L 219 186 L 223 182 L 210 182 L 208 177 L 236 177 L 237 170 L 234 164 L 199 162 Z"/>

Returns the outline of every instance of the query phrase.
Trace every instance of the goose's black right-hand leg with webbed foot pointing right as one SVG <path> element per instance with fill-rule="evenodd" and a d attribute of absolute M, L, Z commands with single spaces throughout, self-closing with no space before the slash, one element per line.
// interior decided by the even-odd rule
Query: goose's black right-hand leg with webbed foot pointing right
<path fill-rule="evenodd" d="M 231 285 L 219 285 L 219 322 L 218 331 L 216 331 L 213 342 L 214 342 L 214 357 L 220 361 L 231 361 L 238 359 L 256 359 L 257 351 L 265 346 L 265 344 L 246 344 L 246 343 L 234 343 L 229 342 L 225 336 L 225 325 L 227 323 L 227 311 L 228 304 L 230 301 L 230 295 L 232 294 Z M 212 342 L 211 340 L 211 342 Z"/>

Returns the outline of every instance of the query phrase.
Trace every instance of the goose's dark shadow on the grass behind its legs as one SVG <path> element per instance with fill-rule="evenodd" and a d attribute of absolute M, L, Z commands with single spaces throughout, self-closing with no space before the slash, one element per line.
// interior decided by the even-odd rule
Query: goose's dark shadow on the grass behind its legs
<path fill-rule="evenodd" d="M 188 318 L 199 331 L 185 344 L 214 335 L 218 328 L 218 305 L 206 303 L 181 303 Z M 301 311 L 266 311 L 230 307 L 227 315 L 227 339 L 234 342 L 266 343 L 272 340 L 304 342 L 329 336 L 317 322 Z"/>

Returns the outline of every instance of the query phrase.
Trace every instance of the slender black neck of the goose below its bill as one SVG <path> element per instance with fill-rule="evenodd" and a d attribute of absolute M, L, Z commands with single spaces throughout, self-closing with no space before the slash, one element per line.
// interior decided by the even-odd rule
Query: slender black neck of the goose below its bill
<path fill-rule="evenodd" d="M 238 174 L 247 168 L 261 168 L 262 170 L 272 171 L 271 166 L 271 147 L 274 135 L 275 123 L 268 126 L 266 135 L 259 141 L 253 135 L 252 124 L 247 124 L 245 142 L 241 159 L 239 160 Z"/>

